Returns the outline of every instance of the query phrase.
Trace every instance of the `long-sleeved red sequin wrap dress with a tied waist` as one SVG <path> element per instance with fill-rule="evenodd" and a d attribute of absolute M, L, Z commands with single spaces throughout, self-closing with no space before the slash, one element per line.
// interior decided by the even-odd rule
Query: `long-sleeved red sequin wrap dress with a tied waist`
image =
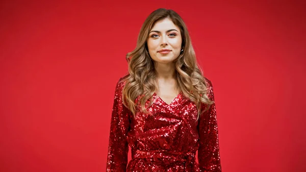
<path fill-rule="evenodd" d="M 206 82 L 214 100 L 213 85 Z M 124 84 L 118 82 L 115 91 L 107 171 L 221 171 L 215 104 L 196 121 L 197 108 L 182 92 L 169 105 L 154 93 L 156 101 L 147 110 L 155 117 L 138 112 L 134 118 L 122 104 Z M 129 145 L 132 160 L 127 163 Z"/>

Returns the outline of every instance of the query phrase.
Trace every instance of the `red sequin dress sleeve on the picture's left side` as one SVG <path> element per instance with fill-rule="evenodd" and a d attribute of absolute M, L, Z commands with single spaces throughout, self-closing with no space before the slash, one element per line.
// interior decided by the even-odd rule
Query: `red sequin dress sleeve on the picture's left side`
<path fill-rule="evenodd" d="M 111 115 L 106 171 L 125 172 L 127 153 L 129 152 L 126 134 L 130 129 L 129 115 L 132 112 L 122 103 L 121 95 L 123 83 L 119 83 L 119 81 L 115 89 L 114 104 Z"/>

